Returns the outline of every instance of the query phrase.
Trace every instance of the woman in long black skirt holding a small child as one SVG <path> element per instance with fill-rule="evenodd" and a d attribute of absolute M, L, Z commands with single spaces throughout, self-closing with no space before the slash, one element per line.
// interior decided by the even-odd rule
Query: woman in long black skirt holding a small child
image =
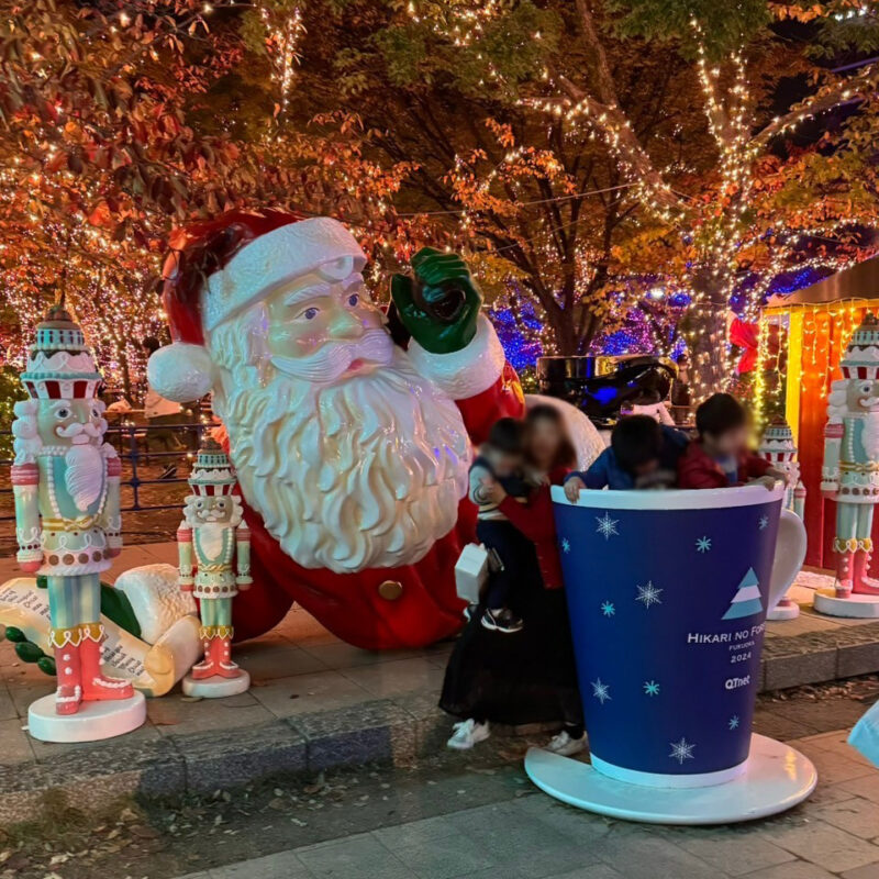
<path fill-rule="evenodd" d="M 504 424 L 492 434 L 502 449 L 480 449 L 470 497 L 480 508 L 480 538 L 496 543 L 507 576 L 500 589 L 490 586 L 449 659 L 439 705 L 465 720 L 448 746 L 471 748 L 488 738 L 490 723 L 559 723 L 549 749 L 569 756 L 582 750 L 585 736 L 549 487 L 574 466 L 574 448 L 552 405 L 528 412 L 519 431 L 521 461 L 516 429 Z"/>

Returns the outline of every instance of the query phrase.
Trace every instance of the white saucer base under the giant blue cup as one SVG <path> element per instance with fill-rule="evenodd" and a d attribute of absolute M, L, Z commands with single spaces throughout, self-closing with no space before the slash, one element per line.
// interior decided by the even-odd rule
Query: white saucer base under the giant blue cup
<path fill-rule="evenodd" d="M 799 750 L 752 735 L 745 770 L 721 785 L 654 788 L 603 776 L 588 763 L 531 748 L 528 778 L 545 793 L 600 815 L 648 824 L 727 824 L 774 815 L 802 802 L 817 772 Z"/>

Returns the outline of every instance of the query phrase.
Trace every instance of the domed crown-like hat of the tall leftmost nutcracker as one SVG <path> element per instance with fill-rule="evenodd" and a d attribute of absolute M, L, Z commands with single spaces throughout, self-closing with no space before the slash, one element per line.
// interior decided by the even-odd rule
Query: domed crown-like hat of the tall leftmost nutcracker
<path fill-rule="evenodd" d="M 53 305 L 36 325 L 36 341 L 27 351 L 21 374 L 25 390 L 38 400 L 93 400 L 101 374 L 86 338 L 64 301 Z"/>

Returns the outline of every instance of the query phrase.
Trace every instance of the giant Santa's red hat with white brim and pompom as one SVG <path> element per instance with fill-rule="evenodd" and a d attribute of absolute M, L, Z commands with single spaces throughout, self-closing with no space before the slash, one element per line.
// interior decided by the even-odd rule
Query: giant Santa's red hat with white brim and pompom
<path fill-rule="evenodd" d="M 279 286 L 327 263 L 366 256 L 337 220 L 286 211 L 230 211 L 177 230 L 165 260 L 163 300 L 174 344 L 147 364 L 151 387 L 177 402 L 213 387 L 205 334 L 269 296 Z"/>

